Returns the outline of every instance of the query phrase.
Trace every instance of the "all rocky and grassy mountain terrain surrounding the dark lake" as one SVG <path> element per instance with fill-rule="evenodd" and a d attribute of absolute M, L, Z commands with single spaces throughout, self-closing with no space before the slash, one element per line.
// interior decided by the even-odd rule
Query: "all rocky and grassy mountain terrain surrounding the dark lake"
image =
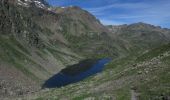
<path fill-rule="evenodd" d="M 169 42 L 170 30 L 158 26 L 104 26 L 77 6 L 1 0 L 0 99 L 166 100 Z M 103 57 L 113 61 L 102 73 L 59 89 L 41 89 L 66 66 Z"/>

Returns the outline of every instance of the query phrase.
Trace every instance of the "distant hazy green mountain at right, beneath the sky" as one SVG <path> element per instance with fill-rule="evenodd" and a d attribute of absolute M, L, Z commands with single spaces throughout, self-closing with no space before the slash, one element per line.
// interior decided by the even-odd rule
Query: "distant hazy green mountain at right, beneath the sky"
<path fill-rule="evenodd" d="M 134 23 L 130 25 L 107 26 L 112 36 L 119 38 L 126 44 L 126 49 L 147 51 L 170 41 L 170 30 L 146 23 Z M 140 53 L 139 53 L 140 54 Z"/>

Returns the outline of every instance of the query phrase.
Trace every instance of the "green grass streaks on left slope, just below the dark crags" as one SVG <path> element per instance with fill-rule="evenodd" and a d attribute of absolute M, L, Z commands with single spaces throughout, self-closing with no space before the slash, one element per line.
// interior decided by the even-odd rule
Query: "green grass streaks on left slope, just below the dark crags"
<path fill-rule="evenodd" d="M 17 40 L 13 38 L 0 37 L 0 58 L 3 61 L 8 62 L 14 67 L 16 67 L 25 75 L 37 80 L 38 78 L 23 65 L 24 60 L 28 60 L 29 62 L 33 61 L 29 59 L 26 55 L 24 55 L 22 52 L 20 52 L 18 49 L 21 49 L 28 53 L 28 51 Z"/>

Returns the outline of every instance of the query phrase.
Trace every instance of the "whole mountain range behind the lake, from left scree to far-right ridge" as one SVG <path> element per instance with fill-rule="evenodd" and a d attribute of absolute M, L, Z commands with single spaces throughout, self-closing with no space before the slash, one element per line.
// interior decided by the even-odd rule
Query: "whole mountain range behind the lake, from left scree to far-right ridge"
<path fill-rule="evenodd" d="M 0 98 L 38 91 L 82 59 L 141 56 L 170 42 L 170 29 L 145 23 L 104 26 L 77 6 L 0 1 Z"/>

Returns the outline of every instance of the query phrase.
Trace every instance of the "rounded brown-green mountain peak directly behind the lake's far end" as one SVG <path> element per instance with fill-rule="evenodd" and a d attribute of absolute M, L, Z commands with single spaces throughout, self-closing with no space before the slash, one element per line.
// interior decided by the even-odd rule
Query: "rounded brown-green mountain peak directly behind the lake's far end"
<path fill-rule="evenodd" d="M 101 46 L 105 45 L 106 49 L 113 47 L 109 44 L 111 39 L 108 37 L 108 29 L 79 7 L 52 8 L 52 14 L 42 12 L 40 16 L 38 13 L 33 17 L 35 22 L 54 32 L 53 39 L 60 37 L 65 45 L 79 55 L 89 57 L 97 53 L 105 54 L 106 51 Z"/>

